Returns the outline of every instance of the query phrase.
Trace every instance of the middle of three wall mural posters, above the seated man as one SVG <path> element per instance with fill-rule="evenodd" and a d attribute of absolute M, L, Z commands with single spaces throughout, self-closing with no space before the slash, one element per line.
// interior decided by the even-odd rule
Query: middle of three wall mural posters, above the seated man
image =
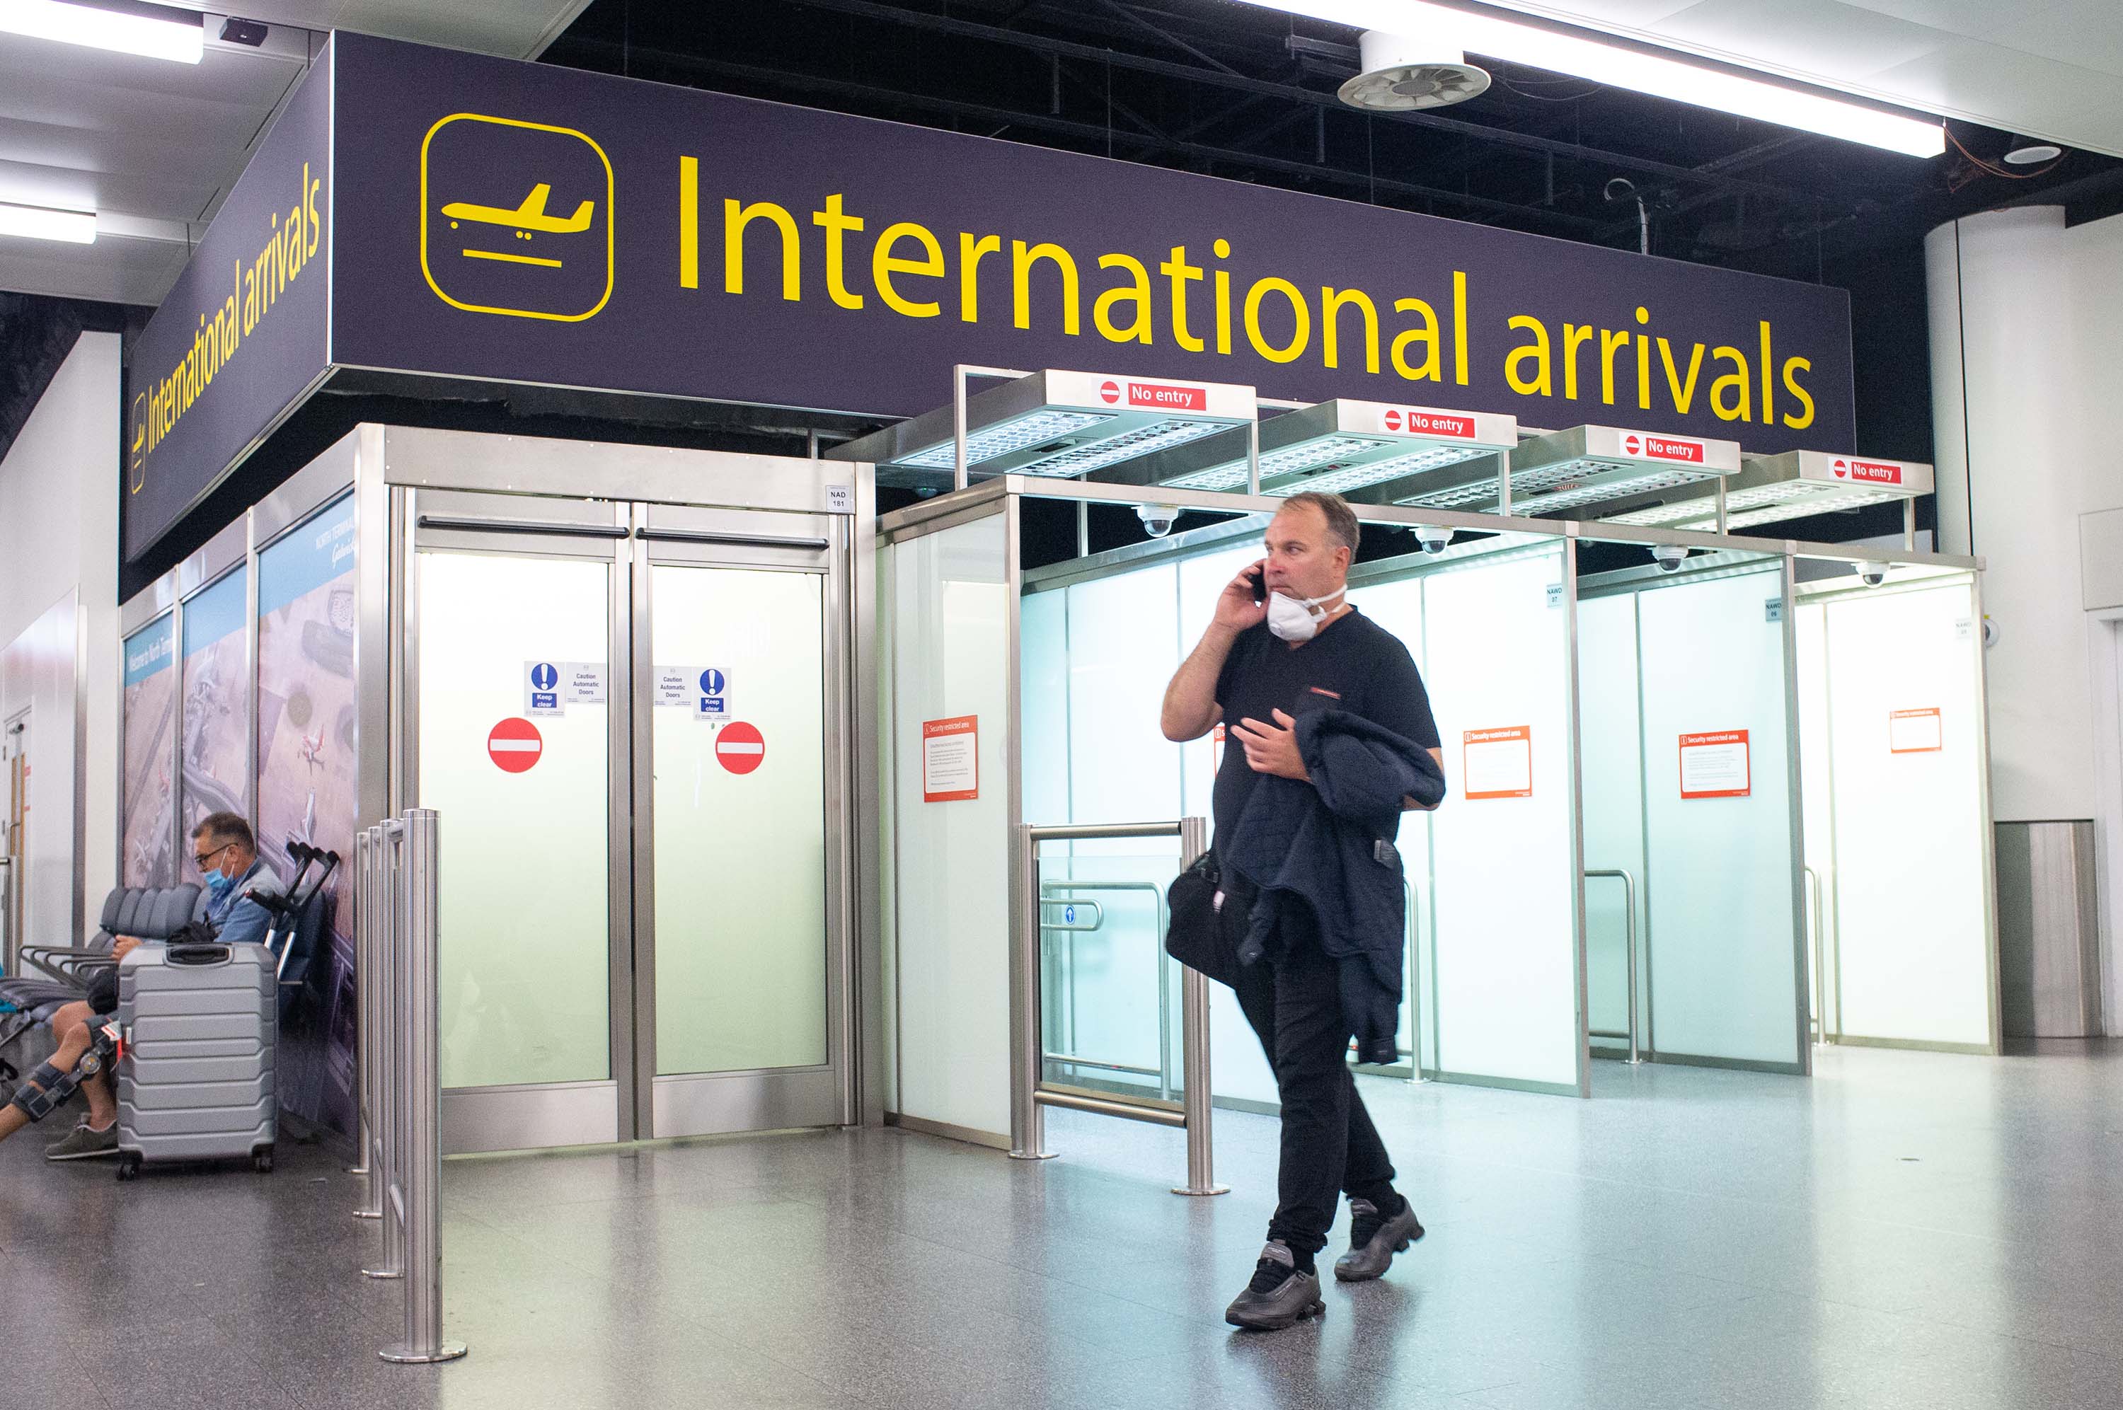
<path fill-rule="evenodd" d="M 208 813 L 251 815 L 246 586 L 236 569 L 185 601 L 185 837 Z M 284 854 L 267 858 L 287 875 Z"/>

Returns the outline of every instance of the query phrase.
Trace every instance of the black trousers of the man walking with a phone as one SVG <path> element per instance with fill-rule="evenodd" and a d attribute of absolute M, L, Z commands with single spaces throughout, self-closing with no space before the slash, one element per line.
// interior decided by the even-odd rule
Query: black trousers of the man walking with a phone
<path fill-rule="evenodd" d="M 1342 1017 L 1340 964 L 1310 926 L 1287 930 L 1301 934 L 1287 936 L 1280 958 L 1244 966 L 1231 987 L 1282 1096 L 1282 1168 L 1267 1236 L 1310 1255 L 1327 1246 L 1342 1191 L 1395 1206 L 1393 1159 L 1348 1070 L 1354 1030 Z"/>

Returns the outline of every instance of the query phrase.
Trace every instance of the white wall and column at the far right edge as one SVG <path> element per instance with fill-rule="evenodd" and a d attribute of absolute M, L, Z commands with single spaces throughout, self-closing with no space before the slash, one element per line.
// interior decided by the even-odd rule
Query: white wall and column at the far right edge
<path fill-rule="evenodd" d="M 2117 856 L 2123 784 L 2095 750 L 2083 514 L 2123 508 L 2123 219 L 1993 210 L 1926 240 L 1940 548 L 1985 558 L 1991 798 L 2000 822 L 2095 818 Z M 2098 769 L 2095 764 L 2108 764 Z M 2104 877 L 2104 945 L 2123 877 Z M 2110 1032 L 2123 992 L 2110 983 Z"/>

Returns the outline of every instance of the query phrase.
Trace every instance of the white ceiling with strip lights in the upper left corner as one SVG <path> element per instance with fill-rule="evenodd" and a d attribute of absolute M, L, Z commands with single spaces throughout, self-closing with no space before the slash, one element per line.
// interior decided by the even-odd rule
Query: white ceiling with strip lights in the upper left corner
<path fill-rule="evenodd" d="M 197 66 L 0 34 L 0 202 L 98 212 L 96 244 L 0 236 L 0 289 L 161 302 L 329 30 L 535 57 L 586 4 L 242 0 L 265 47 L 206 15 Z"/>

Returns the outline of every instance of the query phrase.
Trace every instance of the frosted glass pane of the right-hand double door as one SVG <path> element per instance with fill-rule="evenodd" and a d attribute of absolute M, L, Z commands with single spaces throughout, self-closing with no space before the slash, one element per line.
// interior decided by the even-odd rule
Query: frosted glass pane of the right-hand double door
<path fill-rule="evenodd" d="M 652 656 L 728 682 L 730 724 L 658 705 L 656 1070 L 826 1062 L 824 578 L 654 565 Z M 749 724 L 758 754 L 730 754 Z"/>

